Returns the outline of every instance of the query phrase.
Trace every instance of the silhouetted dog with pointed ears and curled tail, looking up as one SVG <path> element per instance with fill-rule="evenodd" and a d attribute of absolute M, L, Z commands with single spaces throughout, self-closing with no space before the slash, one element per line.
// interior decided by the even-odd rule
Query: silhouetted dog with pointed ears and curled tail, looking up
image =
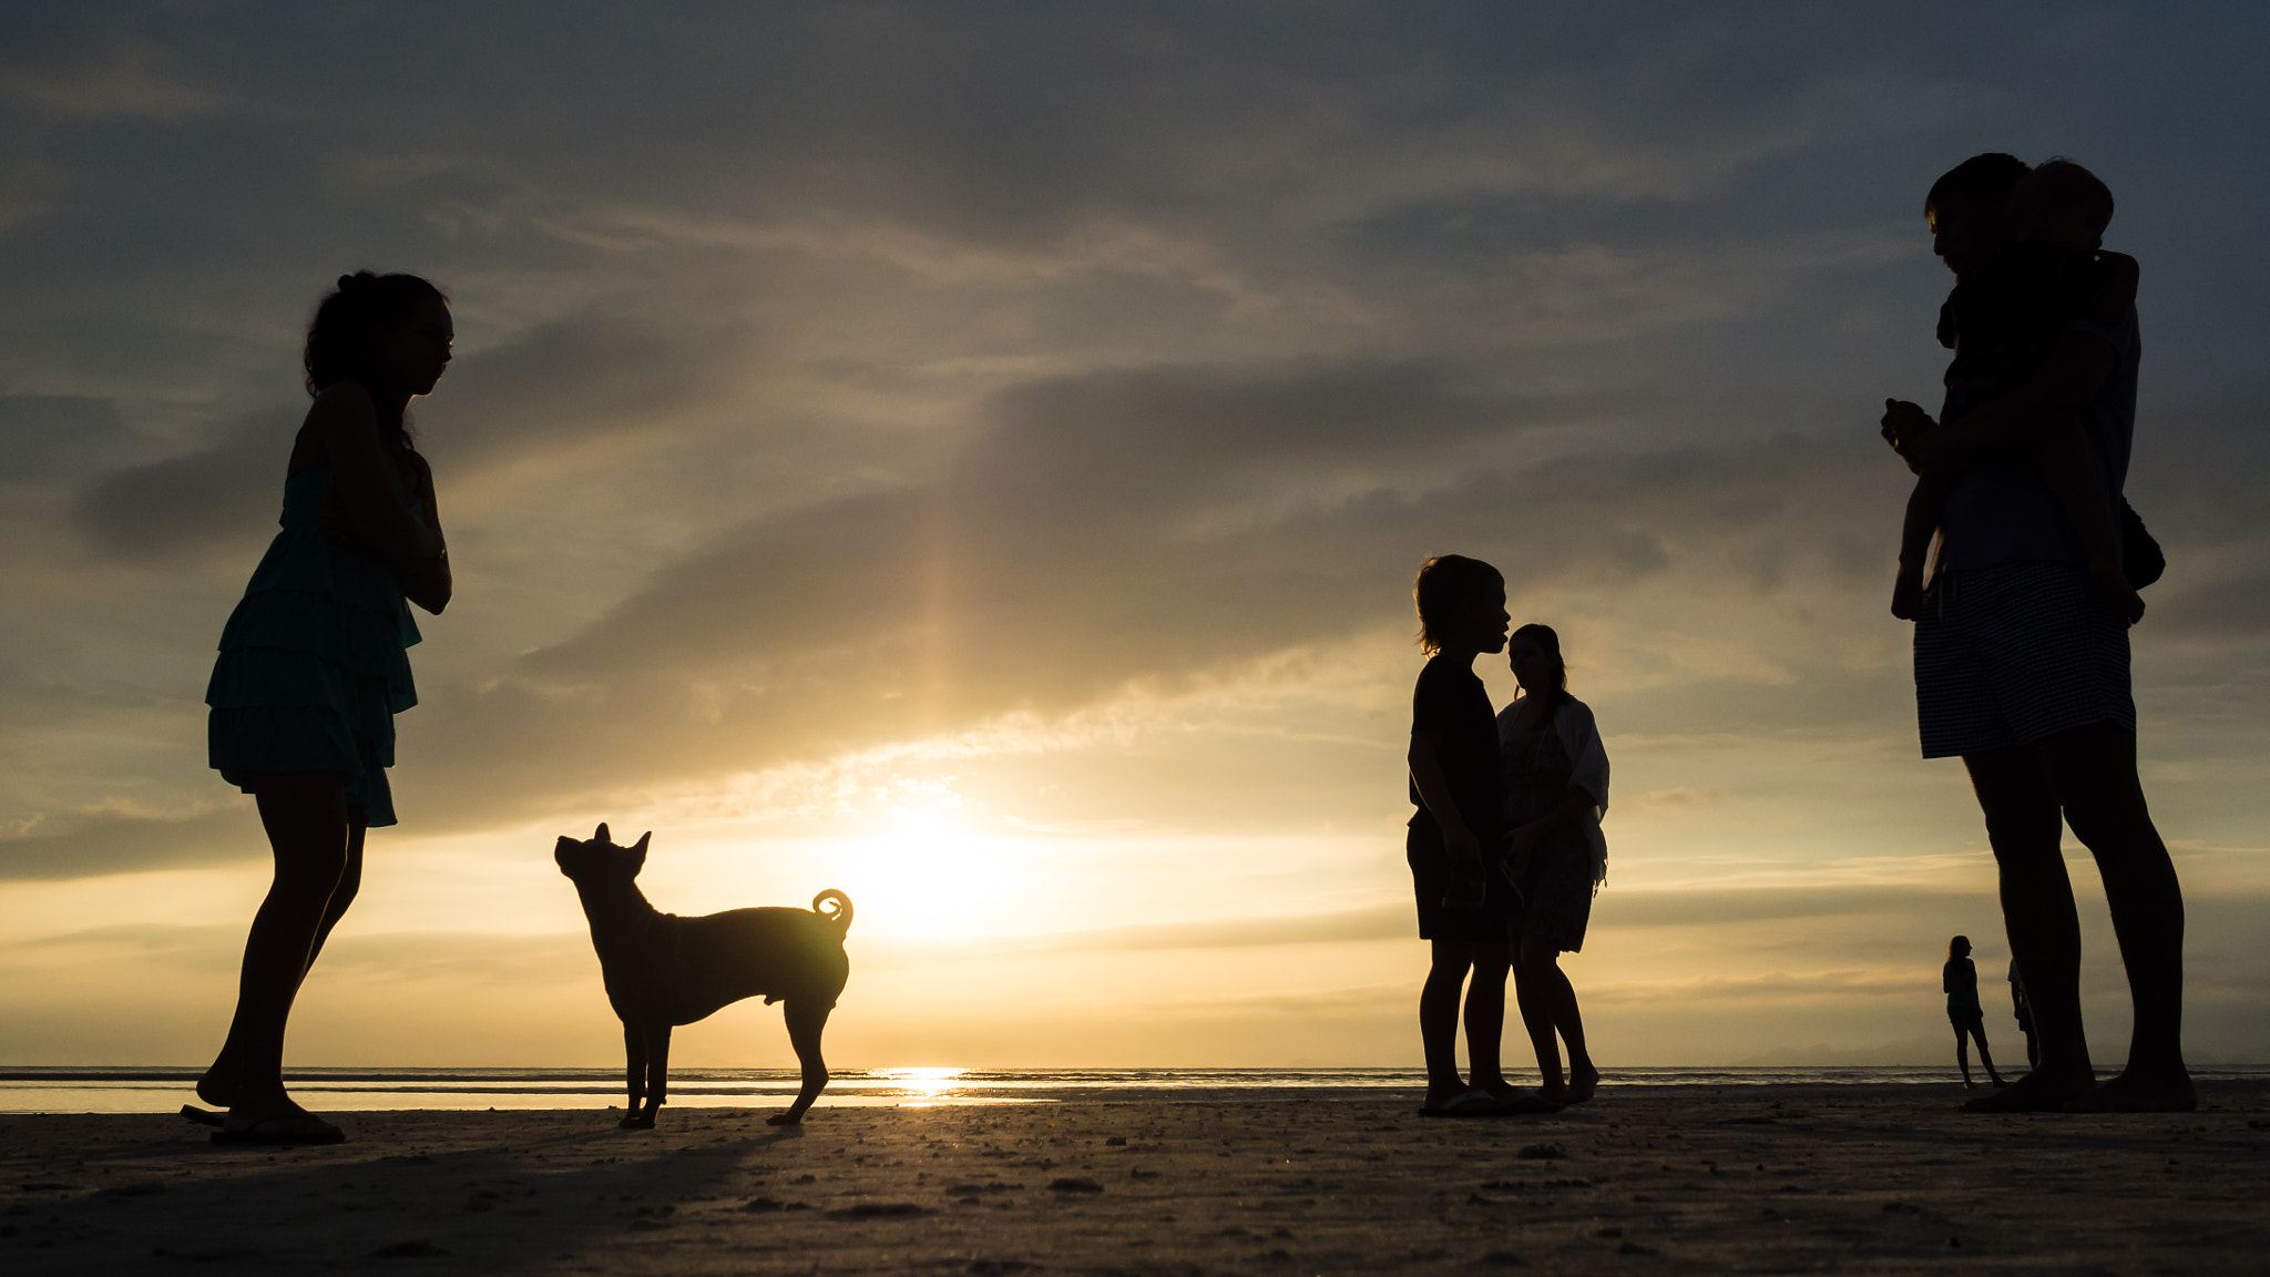
<path fill-rule="evenodd" d="M 661 913 L 636 882 L 651 836 L 617 848 L 599 825 L 590 841 L 561 836 L 552 848 L 552 859 L 583 900 L 606 1000 L 622 1018 L 631 1109 L 620 1125 L 654 1129 L 654 1113 L 667 1093 L 670 1029 L 742 998 L 763 998 L 767 1007 L 788 1002 L 781 1011 L 804 1084 L 797 1102 L 765 1125 L 799 1125 L 829 1084 L 819 1034 L 851 979 L 851 959 L 844 957 L 851 898 L 831 888 L 815 895 L 810 909 L 729 909 L 701 918 Z M 833 909 L 822 911 L 822 904 Z"/>

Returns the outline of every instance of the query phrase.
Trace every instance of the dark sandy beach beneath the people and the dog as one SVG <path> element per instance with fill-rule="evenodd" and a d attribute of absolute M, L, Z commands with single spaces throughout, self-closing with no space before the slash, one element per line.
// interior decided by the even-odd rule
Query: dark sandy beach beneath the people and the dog
<path fill-rule="evenodd" d="M 2184 1116 L 1979 1118 L 1954 1086 L 1407 1100 L 0 1116 L 9 1272 L 2261 1272 L 2270 1084 Z M 824 1102 L 822 1102 L 824 1104 Z"/>

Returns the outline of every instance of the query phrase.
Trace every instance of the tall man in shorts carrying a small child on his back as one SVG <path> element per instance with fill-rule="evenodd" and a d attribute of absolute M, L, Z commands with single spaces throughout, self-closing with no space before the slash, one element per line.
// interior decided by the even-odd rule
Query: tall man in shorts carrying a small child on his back
<path fill-rule="evenodd" d="M 1979 155 L 1932 186 L 1932 248 L 1961 279 L 2009 236 L 2004 205 L 2027 166 Z M 1916 620 L 1916 707 L 1925 757 L 1970 770 L 2000 870 L 2002 918 L 2025 979 L 2041 1063 L 1973 1111 L 2197 1107 L 2181 1054 L 2184 893 L 2136 779 L 2127 625 L 2093 593 L 2084 554 L 2043 482 L 2011 454 L 2063 434 L 2086 448 L 2118 509 L 2136 420 L 2136 309 L 2113 325 L 2077 318 L 2009 393 L 1930 427 L 1889 402 L 1884 439 L 1911 468 L 1961 479 Z M 2079 429 L 2075 427 L 2079 420 Z M 2082 929 L 2061 823 L 2104 877 L 2129 998 L 2127 1068 L 2095 1084 L 2082 1032 Z"/>

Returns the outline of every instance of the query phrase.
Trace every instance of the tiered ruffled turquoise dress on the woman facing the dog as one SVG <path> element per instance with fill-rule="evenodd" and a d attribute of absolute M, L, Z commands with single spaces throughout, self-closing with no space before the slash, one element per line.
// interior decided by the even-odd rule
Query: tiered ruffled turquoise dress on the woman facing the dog
<path fill-rule="evenodd" d="M 284 529 L 220 629 L 207 754 L 245 793 L 252 773 L 340 773 L 347 804 L 381 827 L 395 823 L 395 713 L 418 704 L 418 623 L 375 550 L 325 532 L 331 500 L 329 466 L 284 479 Z"/>

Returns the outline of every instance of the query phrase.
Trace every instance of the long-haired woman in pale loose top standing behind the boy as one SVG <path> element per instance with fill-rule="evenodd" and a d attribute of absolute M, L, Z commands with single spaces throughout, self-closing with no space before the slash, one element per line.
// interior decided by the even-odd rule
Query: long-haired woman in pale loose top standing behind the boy
<path fill-rule="evenodd" d="M 1584 1016 L 1559 954 L 1584 948 L 1591 895 L 1607 879 L 1607 750 L 1591 709 L 1569 695 L 1559 634 L 1523 625 L 1505 643 L 1521 698 L 1498 713 L 1505 761 L 1505 852 L 1521 884 L 1514 918 L 1514 998 L 1537 1048 L 1539 1100 L 1582 1104 L 1600 1086 L 1584 1052 Z M 1559 1043 L 1569 1043 L 1562 1077 Z"/>

